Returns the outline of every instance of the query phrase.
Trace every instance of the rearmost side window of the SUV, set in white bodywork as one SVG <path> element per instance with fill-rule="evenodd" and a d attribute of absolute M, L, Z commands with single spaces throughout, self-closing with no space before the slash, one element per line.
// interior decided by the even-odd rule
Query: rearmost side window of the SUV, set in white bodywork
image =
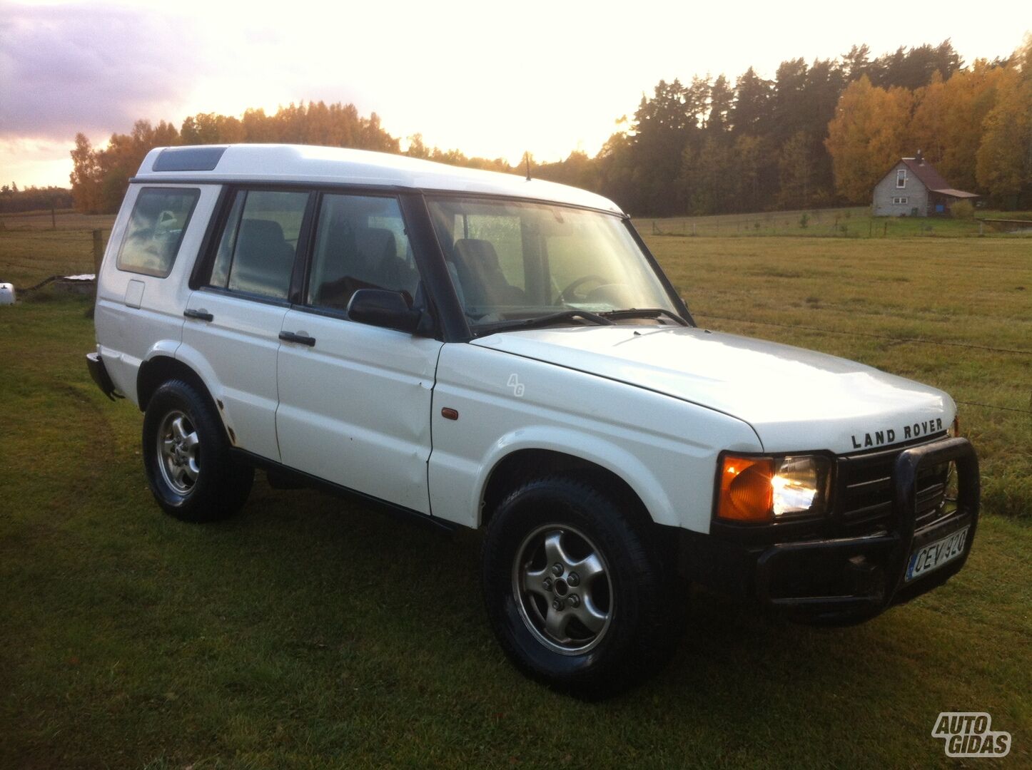
<path fill-rule="evenodd" d="M 166 277 L 199 197 L 196 189 L 140 190 L 119 249 L 119 270 Z"/>

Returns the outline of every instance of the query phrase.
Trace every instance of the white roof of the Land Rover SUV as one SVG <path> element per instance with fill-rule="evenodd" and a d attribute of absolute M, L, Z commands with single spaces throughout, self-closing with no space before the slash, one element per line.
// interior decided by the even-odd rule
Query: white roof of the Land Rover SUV
<path fill-rule="evenodd" d="M 182 179 L 203 181 L 298 181 L 313 183 L 348 182 L 373 187 L 400 187 L 419 190 L 451 190 L 556 201 L 615 213 L 620 208 L 608 198 L 585 190 L 544 179 L 527 179 L 516 174 L 448 166 L 418 158 L 364 149 L 319 147 L 307 144 L 229 144 L 204 147 L 156 147 L 148 153 L 136 176 L 140 180 Z M 187 159 L 199 150 L 211 163 L 192 168 L 186 163 L 158 163 L 165 159 Z M 155 170 L 172 167 L 172 170 Z M 206 166 L 206 168 L 205 168 Z"/>

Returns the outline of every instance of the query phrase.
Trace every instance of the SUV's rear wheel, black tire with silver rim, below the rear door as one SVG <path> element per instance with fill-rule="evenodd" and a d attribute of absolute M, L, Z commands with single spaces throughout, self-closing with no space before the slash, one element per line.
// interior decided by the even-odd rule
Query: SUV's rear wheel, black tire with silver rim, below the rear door
<path fill-rule="evenodd" d="M 151 492 L 176 518 L 227 518 L 248 499 L 254 468 L 231 457 L 215 407 L 191 382 L 168 380 L 151 397 L 142 448 Z"/>

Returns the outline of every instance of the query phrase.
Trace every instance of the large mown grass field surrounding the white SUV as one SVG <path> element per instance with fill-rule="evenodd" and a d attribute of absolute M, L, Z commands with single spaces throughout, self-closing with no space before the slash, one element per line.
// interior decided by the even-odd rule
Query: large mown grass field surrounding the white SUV
<path fill-rule="evenodd" d="M 74 239 L 37 237 L 0 232 L 0 280 L 82 269 Z M 942 710 L 989 711 L 1013 736 L 998 764 L 1032 765 L 1028 241 L 649 242 L 702 325 L 965 402 L 986 513 L 958 577 L 837 630 L 698 593 L 656 679 L 573 701 L 503 659 L 476 533 L 261 476 L 231 522 L 161 514 L 140 415 L 86 373 L 89 303 L 47 294 L 0 307 L 0 767 L 956 766 Z"/>

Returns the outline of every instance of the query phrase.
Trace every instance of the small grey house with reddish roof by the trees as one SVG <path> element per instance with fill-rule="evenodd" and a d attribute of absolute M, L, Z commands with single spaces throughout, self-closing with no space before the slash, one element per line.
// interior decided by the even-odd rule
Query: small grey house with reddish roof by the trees
<path fill-rule="evenodd" d="M 875 216 L 934 216 L 948 214 L 959 200 L 977 197 L 949 187 L 918 149 L 913 158 L 900 159 L 874 186 L 871 208 Z"/>

